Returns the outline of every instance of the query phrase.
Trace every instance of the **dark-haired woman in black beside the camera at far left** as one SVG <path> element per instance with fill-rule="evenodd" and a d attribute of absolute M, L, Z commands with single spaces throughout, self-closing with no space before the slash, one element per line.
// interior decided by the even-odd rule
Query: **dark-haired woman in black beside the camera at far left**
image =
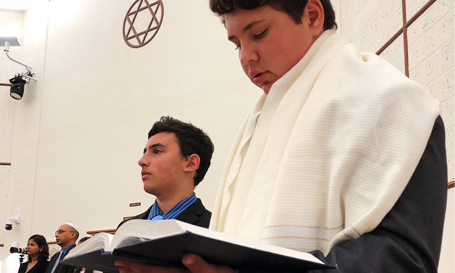
<path fill-rule="evenodd" d="M 27 243 L 28 261 L 20 265 L 18 273 L 44 273 L 49 261 L 49 246 L 44 236 L 35 234 Z"/>

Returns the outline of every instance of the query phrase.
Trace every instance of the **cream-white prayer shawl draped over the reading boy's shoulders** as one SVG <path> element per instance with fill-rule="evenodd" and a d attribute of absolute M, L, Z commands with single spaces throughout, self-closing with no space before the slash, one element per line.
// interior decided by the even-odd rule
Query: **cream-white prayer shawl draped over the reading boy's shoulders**
<path fill-rule="evenodd" d="M 243 124 L 211 229 L 327 255 L 394 206 L 438 115 L 422 86 L 325 31 Z"/>

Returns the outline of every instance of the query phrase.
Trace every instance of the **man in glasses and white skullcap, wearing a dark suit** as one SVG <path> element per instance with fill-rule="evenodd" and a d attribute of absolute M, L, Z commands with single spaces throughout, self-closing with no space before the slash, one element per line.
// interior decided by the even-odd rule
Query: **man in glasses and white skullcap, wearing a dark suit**
<path fill-rule="evenodd" d="M 60 263 L 63 258 L 76 247 L 76 240 L 79 238 L 79 227 L 73 222 L 62 224 L 56 231 L 56 241 L 61 251 L 52 256 L 47 265 L 45 273 L 73 273 L 75 266 Z"/>

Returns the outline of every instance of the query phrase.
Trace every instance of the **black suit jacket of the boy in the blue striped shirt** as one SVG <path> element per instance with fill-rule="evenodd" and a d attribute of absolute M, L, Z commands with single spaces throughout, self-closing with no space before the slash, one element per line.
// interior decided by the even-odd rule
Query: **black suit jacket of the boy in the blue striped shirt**
<path fill-rule="evenodd" d="M 147 211 L 136 215 L 135 217 L 132 217 L 130 219 L 123 220 L 117 227 L 117 229 L 126 221 L 131 220 L 131 219 L 147 219 L 150 210 L 152 209 L 153 205 L 150 206 Z M 186 210 L 184 210 L 182 213 L 180 213 L 179 216 L 177 216 L 177 220 L 180 220 L 182 222 L 187 222 L 199 227 L 208 227 L 210 224 L 210 218 L 212 217 L 212 212 L 209 212 L 204 205 L 202 205 L 201 199 L 197 198 L 194 203 L 192 203 L 189 207 L 187 207 Z M 48 272 L 46 272 L 48 273 Z"/>

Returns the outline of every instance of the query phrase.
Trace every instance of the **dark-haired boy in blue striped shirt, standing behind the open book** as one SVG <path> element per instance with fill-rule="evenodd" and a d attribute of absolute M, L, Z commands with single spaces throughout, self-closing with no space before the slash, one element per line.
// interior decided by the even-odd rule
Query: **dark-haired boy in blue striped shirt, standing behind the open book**
<path fill-rule="evenodd" d="M 196 198 L 194 188 L 210 167 L 213 150 L 210 137 L 201 129 L 162 116 L 149 131 L 144 155 L 138 162 L 144 190 L 157 198 L 146 212 L 130 219 L 177 219 L 208 227 L 212 212 Z"/>

